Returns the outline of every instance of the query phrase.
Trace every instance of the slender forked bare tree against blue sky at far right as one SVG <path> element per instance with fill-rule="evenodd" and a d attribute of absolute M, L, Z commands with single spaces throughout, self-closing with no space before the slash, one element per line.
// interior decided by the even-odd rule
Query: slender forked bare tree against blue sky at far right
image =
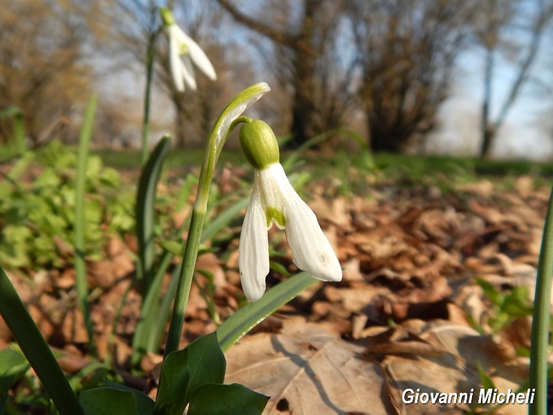
<path fill-rule="evenodd" d="M 474 20 L 474 35 L 485 52 L 480 156 L 489 156 L 498 129 L 529 80 L 543 33 L 552 17 L 553 2 L 550 0 L 489 0 L 480 3 Z M 511 61 L 515 76 L 512 83 L 506 86 L 506 98 L 499 104 L 498 115 L 493 119 L 492 85 L 501 58 Z"/>

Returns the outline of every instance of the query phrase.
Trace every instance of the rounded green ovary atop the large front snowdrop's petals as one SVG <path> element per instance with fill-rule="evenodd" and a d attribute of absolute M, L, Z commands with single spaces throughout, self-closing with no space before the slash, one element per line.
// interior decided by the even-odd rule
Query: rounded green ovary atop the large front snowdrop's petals
<path fill-rule="evenodd" d="M 279 163 L 279 143 L 271 127 L 261 120 L 246 122 L 240 129 L 240 145 L 247 161 L 258 170 Z"/>

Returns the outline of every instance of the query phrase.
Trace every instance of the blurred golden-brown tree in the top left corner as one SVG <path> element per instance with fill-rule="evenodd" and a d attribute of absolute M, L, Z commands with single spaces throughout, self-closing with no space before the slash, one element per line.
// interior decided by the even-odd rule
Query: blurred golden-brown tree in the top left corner
<path fill-rule="evenodd" d="M 88 100 L 91 70 L 84 46 L 91 28 L 83 8 L 91 12 L 93 7 L 71 1 L 3 1 L 0 109 L 15 105 L 23 111 L 32 142 Z M 10 136 L 10 128 L 10 122 L 0 122 L 0 142 Z"/>

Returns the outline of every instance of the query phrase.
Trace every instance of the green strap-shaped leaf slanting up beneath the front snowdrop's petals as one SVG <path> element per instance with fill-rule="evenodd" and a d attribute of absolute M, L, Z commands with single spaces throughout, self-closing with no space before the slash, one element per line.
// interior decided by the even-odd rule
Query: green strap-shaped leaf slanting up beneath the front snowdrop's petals
<path fill-rule="evenodd" d="M 308 273 L 299 273 L 294 277 L 288 278 L 277 286 L 270 288 L 261 299 L 251 302 L 240 308 L 231 315 L 217 329 L 217 337 L 221 349 L 226 351 L 232 344 L 236 343 L 252 327 L 262 322 L 265 317 L 271 315 L 279 307 L 283 306 L 290 299 L 296 297 L 299 293 L 310 286 L 316 284 L 317 279 L 311 277 Z"/>

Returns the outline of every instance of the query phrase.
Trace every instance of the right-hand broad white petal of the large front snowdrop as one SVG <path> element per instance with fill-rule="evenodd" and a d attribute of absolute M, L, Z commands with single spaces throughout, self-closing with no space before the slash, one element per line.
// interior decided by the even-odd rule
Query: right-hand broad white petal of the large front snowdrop
<path fill-rule="evenodd" d="M 317 216 L 294 190 L 282 166 L 273 167 L 284 203 L 286 237 L 292 250 L 292 261 L 301 270 L 323 281 L 341 281 L 341 266 L 324 235 Z"/>

